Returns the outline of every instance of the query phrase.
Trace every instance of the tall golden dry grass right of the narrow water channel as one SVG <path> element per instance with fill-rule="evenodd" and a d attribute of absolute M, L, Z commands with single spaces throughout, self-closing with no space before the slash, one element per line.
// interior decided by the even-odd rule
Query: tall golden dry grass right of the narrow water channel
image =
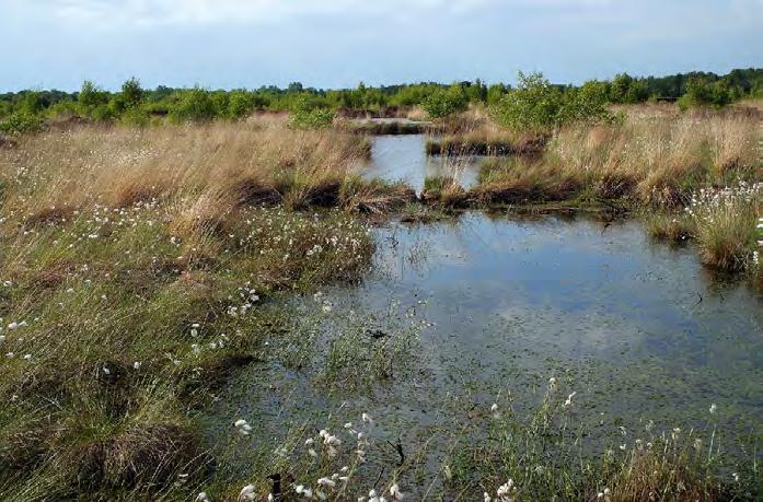
<path fill-rule="evenodd" d="M 674 104 L 614 106 L 612 124 L 574 124 L 550 138 L 521 137 L 481 108 L 447 119 L 430 153 L 511 154 L 490 160 L 470 199 L 477 203 L 628 199 L 679 208 L 703 187 L 763 178 L 763 115 L 749 106 L 682 114 Z"/>

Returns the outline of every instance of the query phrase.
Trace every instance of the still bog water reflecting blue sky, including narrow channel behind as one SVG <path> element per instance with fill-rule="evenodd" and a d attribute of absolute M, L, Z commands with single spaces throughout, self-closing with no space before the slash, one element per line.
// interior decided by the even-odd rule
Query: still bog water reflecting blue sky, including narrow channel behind
<path fill-rule="evenodd" d="M 368 175 L 420 189 L 438 168 L 423 151 L 420 136 L 377 138 Z M 470 183 L 476 170 L 465 165 Z M 221 424 L 220 443 L 231 417 L 256 417 L 263 455 L 293 424 L 368 412 L 385 436 L 420 444 L 467 420 L 463 404 L 486 408 L 512 396 L 518 410 L 531 408 L 551 376 L 577 393 L 594 448 L 648 421 L 707 427 L 713 404 L 719 430 L 761 431 L 763 297 L 718 280 L 691 246 L 654 244 L 635 220 L 478 211 L 432 224 L 393 221 L 373 233 L 372 270 L 360 284 L 325 289 L 330 313 L 312 296 L 297 300 L 305 318 L 322 319 L 320 335 L 308 336 L 309 362 L 285 364 L 274 338 L 263 361 L 226 389 L 209 418 Z M 358 329 L 362 345 L 411 326 L 417 342 L 395 354 L 388 378 L 326 383 L 337 332 Z M 369 361 L 345 363 L 362 373 Z M 442 454 L 430 446 L 425 479 Z"/>

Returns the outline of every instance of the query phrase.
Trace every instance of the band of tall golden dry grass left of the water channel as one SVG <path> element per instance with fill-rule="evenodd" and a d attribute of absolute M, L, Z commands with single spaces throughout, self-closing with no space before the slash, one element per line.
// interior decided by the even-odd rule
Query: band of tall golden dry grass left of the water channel
<path fill-rule="evenodd" d="M 5 210 L 37 219 L 153 198 L 177 198 L 180 206 L 194 199 L 197 212 L 268 196 L 301 207 L 347 177 L 367 149 L 349 135 L 290 130 L 275 116 L 142 130 L 82 127 L 0 151 L 0 176 L 9 192 L 23 187 L 18 197 L 7 194 Z"/>

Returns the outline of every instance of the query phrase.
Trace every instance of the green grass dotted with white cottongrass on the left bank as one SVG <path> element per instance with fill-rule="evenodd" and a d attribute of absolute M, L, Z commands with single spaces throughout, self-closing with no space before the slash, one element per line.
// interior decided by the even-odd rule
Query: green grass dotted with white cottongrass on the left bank
<path fill-rule="evenodd" d="M 189 410 L 278 329 L 263 304 L 355 280 L 373 250 L 338 212 L 243 209 L 178 234 L 164 209 L 5 222 L 3 498 L 159 497 L 181 474 L 204 479 Z"/>

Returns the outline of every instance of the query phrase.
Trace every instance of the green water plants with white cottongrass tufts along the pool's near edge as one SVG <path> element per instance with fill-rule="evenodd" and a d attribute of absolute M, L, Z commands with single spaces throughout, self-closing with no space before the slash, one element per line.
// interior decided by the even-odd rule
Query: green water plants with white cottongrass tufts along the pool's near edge
<path fill-rule="evenodd" d="M 291 492 L 367 501 L 466 495 L 492 502 L 679 501 L 748 500 L 758 493 L 760 472 L 745 456 L 754 454 L 735 450 L 743 456 L 737 463 L 730 445 L 720 444 L 715 404 L 702 425 L 613 423 L 604 425 L 612 434 L 602 442 L 587 434 L 586 397 L 563 392 L 568 384 L 550 378 L 542 400 L 530 408 L 511 396 L 493 404 L 466 400 L 470 420 L 440 428 L 421 443 L 401 441 L 383 416 L 358 412 L 356 422 L 339 409 L 322 423 L 291 424 L 284 441 L 266 446 L 274 454 L 262 470 L 250 470 L 242 482 L 255 499 Z M 444 454 L 427 455 L 431 443 Z M 439 468 L 432 469 L 432 462 Z"/>

